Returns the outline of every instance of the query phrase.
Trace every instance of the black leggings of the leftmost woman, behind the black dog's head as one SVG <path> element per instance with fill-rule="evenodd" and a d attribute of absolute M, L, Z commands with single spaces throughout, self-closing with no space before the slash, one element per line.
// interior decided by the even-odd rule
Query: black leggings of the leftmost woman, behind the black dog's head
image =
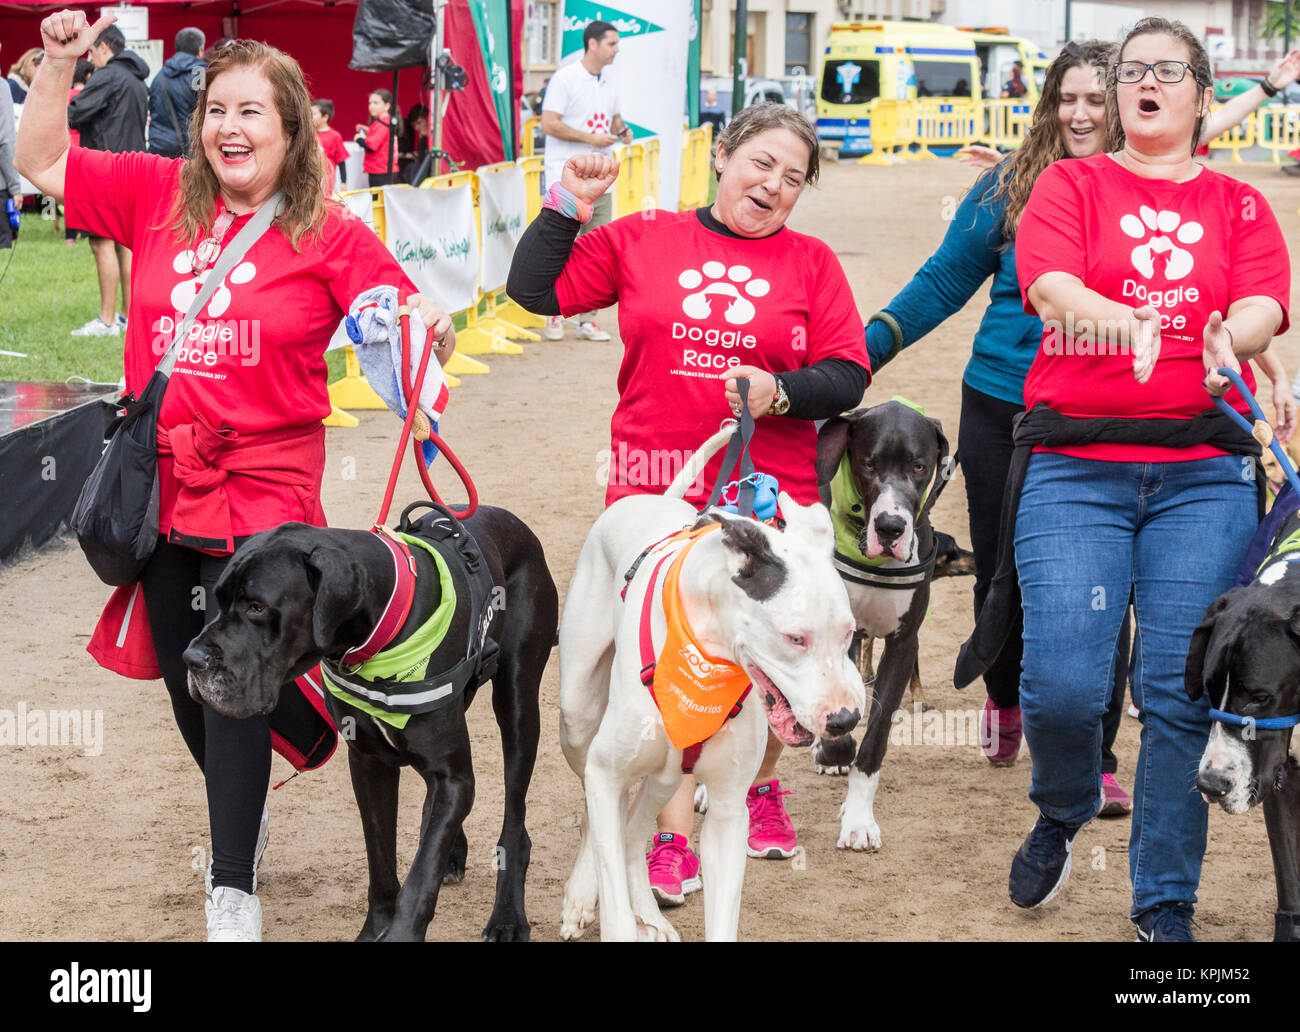
<path fill-rule="evenodd" d="M 235 546 L 243 541 L 237 539 Z M 181 659 L 203 625 L 216 616 L 212 591 L 229 561 L 230 556 L 204 555 L 159 538 L 140 573 L 140 585 L 172 712 L 208 789 L 213 888 L 252 892 L 257 825 L 270 780 L 270 717 L 235 720 L 195 702 Z M 294 685 L 285 689 L 276 710 L 277 725 L 282 710 L 292 716 L 300 716 L 292 712 L 299 707 L 311 710 Z"/>

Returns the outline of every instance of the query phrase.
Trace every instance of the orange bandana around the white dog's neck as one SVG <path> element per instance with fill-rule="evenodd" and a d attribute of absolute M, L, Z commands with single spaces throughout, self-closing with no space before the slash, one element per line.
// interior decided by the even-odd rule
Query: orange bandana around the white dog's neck
<path fill-rule="evenodd" d="M 659 707 L 663 727 L 673 749 L 686 749 L 714 734 L 727 723 L 736 703 L 749 689 L 749 675 L 741 667 L 714 659 L 696 641 L 677 591 L 686 552 L 703 534 L 719 529 L 722 528 L 714 524 L 667 542 L 671 545 L 682 538 L 688 539 L 686 546 L 673 558 L 664 577 L 663 611 L 668 619 L 668 633 L 663 647 L 659 649 L 650 694 Z M 654 574 L 646 590 L 654 591 Z"/>

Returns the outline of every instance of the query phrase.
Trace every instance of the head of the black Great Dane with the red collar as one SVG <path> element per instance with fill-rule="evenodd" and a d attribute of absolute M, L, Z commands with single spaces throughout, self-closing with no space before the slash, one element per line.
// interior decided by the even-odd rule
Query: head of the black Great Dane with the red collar
<path fill-rule="evenodd" d="M 356 532 L 306 524 L 250 538 L 217 581 L 217 617 L 185 651 L 190 694 L 225 716 L 269 714 L 282 684 L 364 641 L 386 587 L 360 547 Z"/>

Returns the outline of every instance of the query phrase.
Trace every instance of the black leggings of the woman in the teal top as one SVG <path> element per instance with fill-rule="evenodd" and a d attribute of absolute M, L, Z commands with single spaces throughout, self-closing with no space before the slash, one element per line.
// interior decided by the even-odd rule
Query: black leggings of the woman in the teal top
<path fill-rule="evenodd" d="M 966 507 L 970 512 L 971 550 L 975 552 L 975 617 L 988 595 L 997 568 L 997 534 L 1002 520 L 1002 490 L 1011 469 L 1011 422 L 1024 406 L 983 394 L 962 381 L 962 419 L 957 437 L 957 456 L 966 478 Z M 1101 721 L 1101 769 L 1114 773 L 1112 746 L 1124 711 L 1128 684 L 1130 616 L 1115 645 L 1115 682 L 1110 706 Z M 1020 652 L 1023 624 L 1019 613 L 997 662 L 984 673 L 984 686 L 994 706 L 1020 704 Z"/>

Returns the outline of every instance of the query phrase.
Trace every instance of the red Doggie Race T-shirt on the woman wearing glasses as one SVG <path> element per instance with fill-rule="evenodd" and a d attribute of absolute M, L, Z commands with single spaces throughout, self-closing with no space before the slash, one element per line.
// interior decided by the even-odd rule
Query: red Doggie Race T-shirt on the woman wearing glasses
<path fill-rule="evenodd" d="M 1145 383 L 1134 380 L 1127 350 L 1096 354 L 1104 347 L 1044 326 L 1043 346 L 1024 381 L 1027 408 L 1045 402 L 1066 416 L 1191 419 L 1213 404 L 1201 386 L 1210 312 L 1227 317 L 1234 302 L 1268 296 L 1282 305 L 1278 333 L 1288 325 L 1291 265 L 1273 211 L 1254 187 L 1204 166 L 1196 178 L 1175 183 L 1144 179 L 1104 153 L 1049 165 L 1020 218 L 1015 266 L 1026 312 L 1034 313 L 1028 296 L 1034 281 L 1065 272 L 1105 298 L 1131 308 L 1150 304 L 1162 316 L 1160 359 Z M 1242 376 L 1253 391 L 1248 363 Z M 1228 399 L 1248 411 L 1235 390 Z M 1223 454 L 1206 445 L 1050 451 L 1141 463 Z"/>

